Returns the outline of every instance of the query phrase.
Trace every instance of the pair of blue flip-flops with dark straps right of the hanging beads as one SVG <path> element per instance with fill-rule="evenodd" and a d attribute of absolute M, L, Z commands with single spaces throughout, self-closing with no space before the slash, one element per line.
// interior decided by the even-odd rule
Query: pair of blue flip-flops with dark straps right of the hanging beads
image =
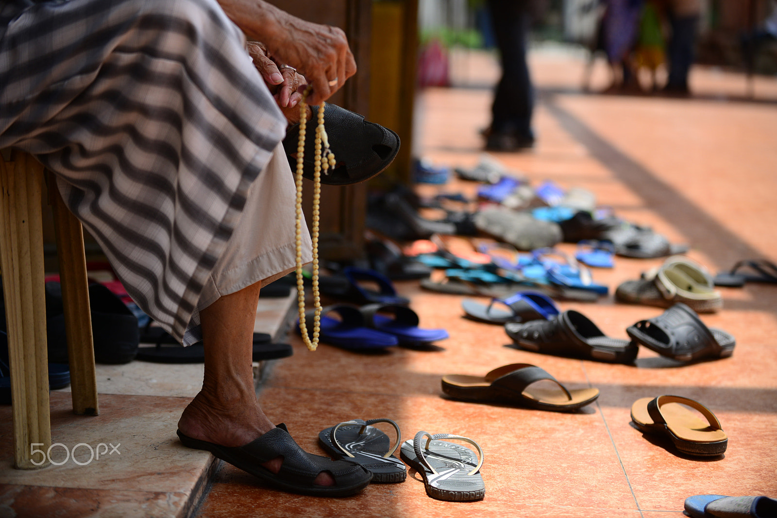
<path fill-rule="evenodd" d="M 305 315 L 312 333 L 315 310 Z M 422 329 L 416 312 L 397 304 L 368 304 L 361 308 L 336 304 L 322 308 L 320 340 L 351 350 L 384 349 L 398 344 L 430 344 L 448 338 L 444 329 Z M 297 326 L 299 333 L 299 326 Z"/>

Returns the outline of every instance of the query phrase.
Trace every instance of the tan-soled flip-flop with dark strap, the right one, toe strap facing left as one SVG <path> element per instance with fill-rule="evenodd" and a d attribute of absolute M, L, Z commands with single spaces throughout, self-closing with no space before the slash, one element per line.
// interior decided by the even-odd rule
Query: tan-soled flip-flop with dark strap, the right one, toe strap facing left
<path fill-rule="evenodd" d="M 702 413 L 701 420 L 695 412 Z M 710 409 L 693 399 L 679 395 L 659 395 L 637 399 L 632 405 L 632 422 L 643 433 L 660 433 L 669 437 L 674 447 L 695 457 L 722 455 L 728 437 Z"/>

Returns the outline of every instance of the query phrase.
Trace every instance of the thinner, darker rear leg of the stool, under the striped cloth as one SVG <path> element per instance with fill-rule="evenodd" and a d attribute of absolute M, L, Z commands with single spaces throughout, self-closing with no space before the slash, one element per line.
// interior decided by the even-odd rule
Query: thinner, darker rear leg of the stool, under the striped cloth
<path fill-rule="evenodd" d="M 73 216 L 59 194 L 57 180 L 47 171 L 49 203 L 54 209 L 57 235 L 57 259 L 62 285 L 64 330 L 68 338 L 70 385 L 73 412 L 96 416 L 97 385 L 95 353 L 92 345 L 92 317 L 89 315 L 89 289 L 86 278 L 84 233 L 81 222 Z"/>

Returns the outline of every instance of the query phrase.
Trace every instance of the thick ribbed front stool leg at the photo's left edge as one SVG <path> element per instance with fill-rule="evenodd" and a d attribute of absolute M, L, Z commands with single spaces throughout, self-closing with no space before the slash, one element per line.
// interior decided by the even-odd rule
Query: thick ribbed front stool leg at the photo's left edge
<path fill-rule="evenodd" d="M 0 158 L 0 260 L 8 320 L 13 455 L 16 468 L 42 468 L 51 446 L 44 242 L 43 166 L 25 153 Z M 40 463 L 40 464 L 39 464 Z"/>

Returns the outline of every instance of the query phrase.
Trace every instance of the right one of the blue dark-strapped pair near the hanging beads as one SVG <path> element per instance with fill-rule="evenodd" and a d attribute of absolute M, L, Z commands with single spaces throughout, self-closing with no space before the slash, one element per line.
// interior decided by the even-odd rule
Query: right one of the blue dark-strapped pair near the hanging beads
<path fill-rule="evenodd" d="M 399 344 L 429 344 L 448 338 L 448 331 L 444 329 L 421 329 L 418 326 L 418 315 L 407 306 L 369 304 L 362 306 L 359 311 L 367 326 L 394 335 Z M 394 317 L 386 316 L 385 313 Z"/>

